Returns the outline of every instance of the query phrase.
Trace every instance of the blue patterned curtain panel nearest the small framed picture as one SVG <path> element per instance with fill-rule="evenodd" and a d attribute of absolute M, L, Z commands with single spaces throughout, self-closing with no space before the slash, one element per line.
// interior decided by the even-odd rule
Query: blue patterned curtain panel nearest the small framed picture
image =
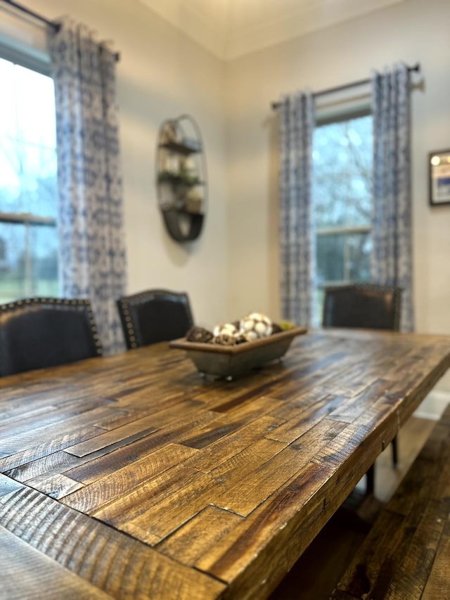
<path fill-rule="evenodd" d="M 372 76 L 373 279 L 399 286 L 401 331 L 413 331 L 410 89 L 406 65 Z"/>

